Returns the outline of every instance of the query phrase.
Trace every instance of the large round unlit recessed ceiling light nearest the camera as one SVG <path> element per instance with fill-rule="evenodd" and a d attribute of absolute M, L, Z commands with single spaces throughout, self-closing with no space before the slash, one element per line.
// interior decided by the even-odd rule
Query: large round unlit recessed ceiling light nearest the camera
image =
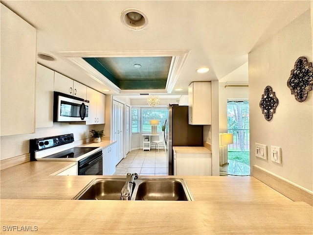
<path fill-rule="evenodd" d="M 148 24 L 147 16 L 138 9 L 124 10 L 121 15 L 121 21 L 134 30 L 144 29 Z"/>

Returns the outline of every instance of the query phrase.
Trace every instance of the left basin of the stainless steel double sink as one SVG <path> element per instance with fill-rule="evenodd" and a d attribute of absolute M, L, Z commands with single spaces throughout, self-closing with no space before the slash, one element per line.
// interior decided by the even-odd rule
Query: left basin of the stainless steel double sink
<path fill-rule="evenodd" d="M 125 179 L 94 179 L 73 199 L 121 200 L 121 189 L 125 182 Z"/>

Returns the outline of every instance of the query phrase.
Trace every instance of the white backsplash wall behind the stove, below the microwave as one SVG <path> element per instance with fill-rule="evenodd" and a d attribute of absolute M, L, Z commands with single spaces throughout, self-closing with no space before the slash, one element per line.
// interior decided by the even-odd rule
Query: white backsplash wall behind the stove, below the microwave
<path fill-rule="evenodd" d="M 53 127 L 49 128 L 36 128 L 36 133 L 2 136 L 0 160 L 12 158 L 29 153 L 29 140 L 35 138 L 44 138 L 49 136 L 58 136 L 64 134 L 74 134 L 74 141 L 81 141 L 89 138 L 89 130 L 97 129 L 103 130 L 104 125 L 79 125 L 68 124 L 68 122 L 54 122 Z"/>

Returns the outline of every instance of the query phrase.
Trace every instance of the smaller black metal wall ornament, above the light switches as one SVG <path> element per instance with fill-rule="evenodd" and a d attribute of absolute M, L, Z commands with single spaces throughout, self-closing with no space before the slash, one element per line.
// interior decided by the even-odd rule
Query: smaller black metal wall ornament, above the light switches
<path fill-rule="evenodd" d="M 262 114 L 264 118 L 270 121 L 275 113 L 276 107 L 278 105 L 278 99 L 270 86 L 264 89 L 264 94 L 262 94 L 262 99 L 260 101 L 260 108 L 262 109 Z"/>

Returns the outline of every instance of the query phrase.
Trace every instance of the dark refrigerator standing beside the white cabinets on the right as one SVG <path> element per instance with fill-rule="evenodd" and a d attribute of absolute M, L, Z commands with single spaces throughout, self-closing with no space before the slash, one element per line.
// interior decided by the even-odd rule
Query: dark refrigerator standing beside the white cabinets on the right
<path fill-rule="evenodd" d="M 173 146 L 203 146 L 203 126 L 188 124 L 188 106 L 169 106 L 169 175 L 174 174 Z"/>

